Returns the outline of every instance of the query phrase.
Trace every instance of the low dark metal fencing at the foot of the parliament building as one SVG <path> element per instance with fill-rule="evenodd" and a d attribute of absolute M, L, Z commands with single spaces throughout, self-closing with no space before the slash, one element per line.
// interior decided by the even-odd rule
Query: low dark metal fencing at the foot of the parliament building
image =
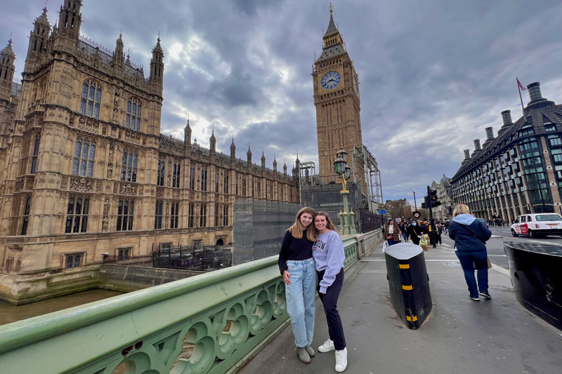
<path fill-rule="evenodd" d="M 152 253 L 152 267 L 209 270 L 232 265 L 233 248 L 230 246 L 178 246 L 159 248 Z"/>

